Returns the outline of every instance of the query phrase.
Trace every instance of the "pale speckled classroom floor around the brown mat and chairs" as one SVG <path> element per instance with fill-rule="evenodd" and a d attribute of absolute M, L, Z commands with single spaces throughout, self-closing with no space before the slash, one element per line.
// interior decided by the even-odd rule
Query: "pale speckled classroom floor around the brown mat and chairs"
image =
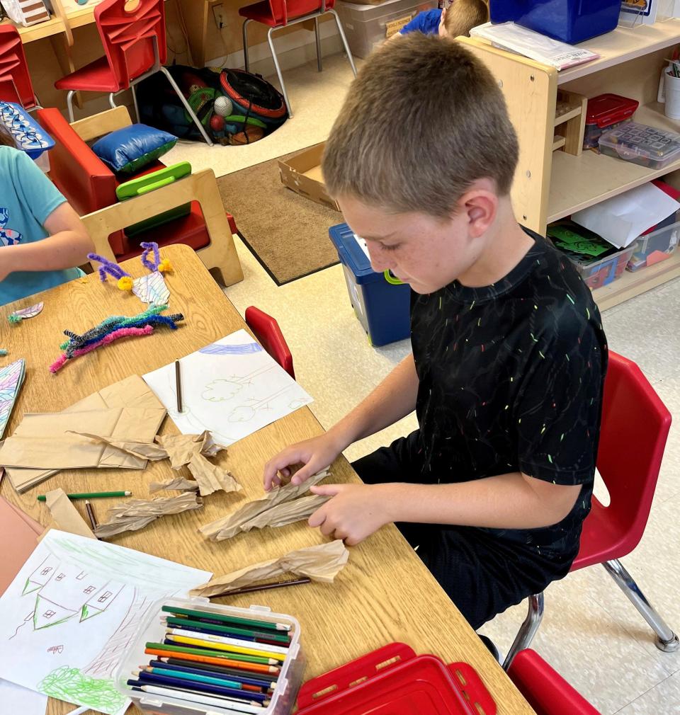
<path fill-rule="evenodd" d="M 314 81 L 320 77 L 324 82 Z M 346 60 L 335 56 L 326 61 L 323 75 L 317 75 L 316 66 L 310 64 L 288 70 L 286 80 L 298 112 L 284 127 L 286 134 L 281 134 L 282 140 L 288 139 L 266 147 L 262 142 L 262 151 L 258 144 L 241 147 L 241 154 L 253 151 L 250 164 L 323 140 L 341 104 L 341 88 L 349 85 L 351 74 Z M 306 114 L 308 102 L 314 107 L 311 114 Z M 312 115 L 314 131 L 308 134 L 310 124 L 305 117 Z M 300 134 L 309 141 L 300 143 Z M 213 154 L 194 146 L 197 158 L 200 155 L 209 164 L 214 155 L 219 172 L 225 173 L 221 169 L 227 154 L 219 153 L 223 149 Z M 225 152 L 233 149 L 225 147 Z M 193 150 L 182 150 L 194 162 Z M 238 159 L 238 168 L 248 165 L 244 161 Z M 382 348 L 369 346 L 349 303 L 339 265 L 277 287 L 238 239 L 237 247 L 244 279 L 225 289 L 226 295 L 241 314 L 248 305 L 257 305 L 276 317 L 291 347 L 298 382 L 314 397 L 311 410 L 328 428 L 407 355 L 407 341 Z M 679 314 L 680 280 L 603 314 L 611 349 L 640 365 L 675 418 L 648 526 L 641 544 L 623 563 L 676 631 L 680 631 L 680 549 L 676 546 L 680 543 Z M 346 457 L 353 460 L 369 453 L 409 433 L 415 425 L 413 416 L 405 418 L 353 445 Z M 482 632 L 505 654 L 524 616 L 525 604 L 520 604 L 487 623 Z M 570 574 L 548 588 L 543 624 L 533 647 L 603 715 L 680 714 L 680 651 L 664 654 L 656 649 L 646 623 L 599 566 Z"/>

